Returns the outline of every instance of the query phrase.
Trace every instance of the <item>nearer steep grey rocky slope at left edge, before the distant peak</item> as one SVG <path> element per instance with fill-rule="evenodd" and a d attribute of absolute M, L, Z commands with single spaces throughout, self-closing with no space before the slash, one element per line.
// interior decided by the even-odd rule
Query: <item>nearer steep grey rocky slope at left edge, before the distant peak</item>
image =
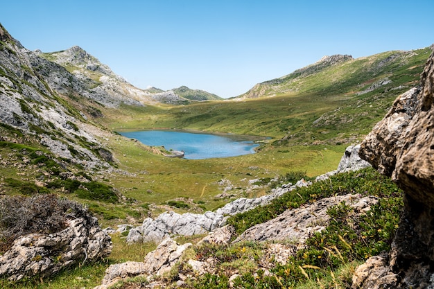
<path fill-rule="evenodd" d="M 122 99 L 142 105 L 132 98 Z M 98 153 L 105 149 L 97 135 L 105 132 L 89 121 L 101 115 L 98 100 L 110 103 L 114 98 L 94 89 L 90 81 L 80 80 L 59 64 L 28 51 L 0 26 L 2 141 L 38 143 L 62 162 L 109 168 L 110 157 L 105 159 Z"/>

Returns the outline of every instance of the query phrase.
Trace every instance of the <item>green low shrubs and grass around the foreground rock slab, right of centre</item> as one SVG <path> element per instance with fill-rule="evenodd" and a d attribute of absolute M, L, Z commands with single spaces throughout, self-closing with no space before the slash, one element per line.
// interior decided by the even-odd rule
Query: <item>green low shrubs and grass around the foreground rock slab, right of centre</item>
<path fill-rule="evenodd" d="M 322 190 L 324 195 L 318 195 Z M 232 217 L 229 223 L 236 226 L 239 234 L 254 223 L 274 218 L 284 207 L 300 207 L 325 195 L 345 193 L 376 195 L 379 203 L 361 216 L 352 214 L 345 203 L 331 207 L 326 229 L 308 238 L 306 247 L 290 256 L 286 264 L 271 259 L 273 265 L 268 274 L 259 270 L 268 243 L 245 241 L 229 246 L 193 247 L 198 260 L 216 261 L 216 271 L 187 282 L 186 288 L 225 288 L 235 272 L 239 275 L 233 281 L 236 288 L 349 288 L 356 265 L 390 249 L 403 207 L 402 192 L 372 168 L 343 173 L 330 181 L 291 191 L 265 207 Z"/>

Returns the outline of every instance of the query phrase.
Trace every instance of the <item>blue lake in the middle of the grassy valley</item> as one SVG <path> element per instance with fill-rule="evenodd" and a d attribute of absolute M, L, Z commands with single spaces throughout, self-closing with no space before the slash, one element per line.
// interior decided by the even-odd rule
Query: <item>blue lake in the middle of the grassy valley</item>
<path fill-rule="evenodd" d="M 182 150 L 185 159 L 248 155 L 254 153 L 254 148 L 259 146 L 251 140 L 252 137 L 233 134 L 200 134 L 166 130 L 119 133 L 130 139 L 137 139 L 147 146 L 164 146 L 166 150 Z"/>

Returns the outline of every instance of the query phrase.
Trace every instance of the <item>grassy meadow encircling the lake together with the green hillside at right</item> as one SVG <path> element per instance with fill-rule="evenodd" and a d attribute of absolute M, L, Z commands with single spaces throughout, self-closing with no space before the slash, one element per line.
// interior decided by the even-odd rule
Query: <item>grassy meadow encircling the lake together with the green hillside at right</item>
<path fill-rule="evenodd" d="M 393 100 L 418 84 L 430 53 L 390 51 L 322 66 L 306 76 L 290 74 L 281 83 L 297 89 L 276 96 L 103 109 L 105 117 L 96 121 L 112 131 L 175 128 L 270 138 L 254 155 L 186 160 L 153 155 L 135 141 L 113 137 L 107 145 L 120 167 L 142 173 L 114 175 L 110 183 L 139 202 L 157 204 L 155 213 L 168 200 L 201 211 L 267 193 L 249 189 L 249 179 L 270 179 L 295 169 L 309 176 L 336 169 L 345 147 L 361 141 Z M 214 198 L 224 189 L 222 180 L 231 182 L 232 198 Z"/>

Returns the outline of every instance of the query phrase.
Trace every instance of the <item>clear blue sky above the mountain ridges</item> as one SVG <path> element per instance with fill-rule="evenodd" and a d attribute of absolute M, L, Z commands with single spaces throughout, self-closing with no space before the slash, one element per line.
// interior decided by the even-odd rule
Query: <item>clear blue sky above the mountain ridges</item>
<path fill-rule="evenodd" d="M 0 23 L 27 49 L 78 45 L 133 85 L 222 97 L 324 55 L 434 43 L 433 0 L 8 0 Z"/>

